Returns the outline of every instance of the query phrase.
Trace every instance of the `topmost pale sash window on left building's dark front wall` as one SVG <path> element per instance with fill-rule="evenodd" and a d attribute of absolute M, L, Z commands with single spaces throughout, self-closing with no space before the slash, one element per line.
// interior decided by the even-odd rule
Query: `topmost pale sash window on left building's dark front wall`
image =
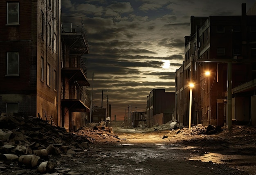
<path fill-rule="evenodd" d="M 7 2 L 7 25 L 19 24 L 19 2 Z"/>

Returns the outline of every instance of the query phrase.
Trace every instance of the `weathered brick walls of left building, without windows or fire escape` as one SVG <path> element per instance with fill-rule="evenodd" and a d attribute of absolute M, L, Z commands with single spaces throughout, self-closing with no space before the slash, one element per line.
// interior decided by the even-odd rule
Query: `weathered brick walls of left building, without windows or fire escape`
<path fill-rule="evenodd" d="M 8 0 L 8 2 L 17 2 Z M 57 41 L 56 52 L 47 43 L 47 25 L 52 26 L 52 34 L 56 33 L 60 40 L 60 2 L 55 0 L 52 8 L 48 8 L 45 0 L 22 0 L 19 1 L 19 25 L 7 24 L 7 1 L 0 1 L 0 82 L 4 85 L 0 88 L 1 94 L 10 96 L 19 95 L 9 100 L 0 99 L 0 111 L 6 111 L 6 103 L 13 100 L 19 103 L 19 112 L 31 116 L 37 116 L 40 112 L 58 118 L 60 115 L 60 93 L 53 89 L 53 70 L 57 72 L 56 81 L 61 75 L 60 42 Z M 54 8 L 55 7 L 55 8 Z M 58 7 L 58 8 L 57 8 Z M 57 9 L 56 12 L 53 9 Z M 41 14 L 45 14 L 44 35 L 41 36 Z M 52 18 L 55 14 L 54 18 Z M 19 76 L 5 76 L 7 72 L 7 52 L 19 52 Z M 40 58 L 44 58 L 44 77 L 46 77 L 46 65 L 51 65 L 51 86 L 47 86 L 46 79 L 40 81 Z"/>

